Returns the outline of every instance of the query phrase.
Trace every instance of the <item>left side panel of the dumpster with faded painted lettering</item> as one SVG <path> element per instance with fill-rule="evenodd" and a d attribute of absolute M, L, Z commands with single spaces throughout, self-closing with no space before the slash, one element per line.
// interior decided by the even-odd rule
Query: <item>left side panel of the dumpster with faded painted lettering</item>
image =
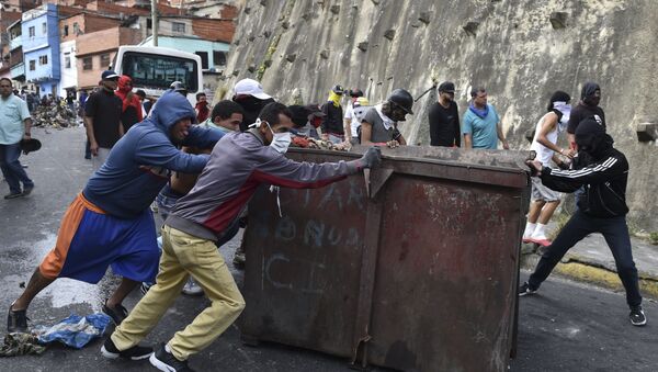
<path fill-rule="evenodd" d="M 351 356 L 365 223 L 363 177 L 316 190 L 259 191 L 249 206 L 240 330 Z"/>

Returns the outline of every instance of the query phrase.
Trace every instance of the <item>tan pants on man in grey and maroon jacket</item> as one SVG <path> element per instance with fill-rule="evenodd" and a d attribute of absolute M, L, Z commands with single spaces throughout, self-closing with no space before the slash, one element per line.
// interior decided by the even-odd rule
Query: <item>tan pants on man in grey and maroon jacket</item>
<path fill-rule="evenodd" d="M 178 360 L 206 348 L 238 318 L 245 300 L 215 244 L 164 225 L 156 284 L 112 335 L 118 350 L 132 348 L 150 332 L 181 293 L 188 275 L 203 289 L 211 306 L 169 340 Z"/>

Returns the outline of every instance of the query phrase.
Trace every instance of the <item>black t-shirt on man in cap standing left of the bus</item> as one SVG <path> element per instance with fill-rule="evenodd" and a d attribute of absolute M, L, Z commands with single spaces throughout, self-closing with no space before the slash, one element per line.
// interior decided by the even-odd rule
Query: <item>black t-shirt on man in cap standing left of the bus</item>
<path fill-rule="evenodd" d="M 93 136 L 99 147 L 112 148 L 118 140 L 123 102 L 105 89 L 92 93 L 84 104 L 84 115 L 93 119 Z"/>

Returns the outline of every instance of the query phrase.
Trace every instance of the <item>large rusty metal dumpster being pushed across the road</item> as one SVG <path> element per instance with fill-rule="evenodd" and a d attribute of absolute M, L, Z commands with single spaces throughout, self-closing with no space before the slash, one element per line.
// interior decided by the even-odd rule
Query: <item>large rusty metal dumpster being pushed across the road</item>
<path fill-rule="evenodd" d="M 291 149 L 305 161 L 352 153 Z M 530 198 L 520 151 L 401 147 L 324 189 L 259 191 L 245 243 L 245 340 L 405 371 L 503 371 Z"/>

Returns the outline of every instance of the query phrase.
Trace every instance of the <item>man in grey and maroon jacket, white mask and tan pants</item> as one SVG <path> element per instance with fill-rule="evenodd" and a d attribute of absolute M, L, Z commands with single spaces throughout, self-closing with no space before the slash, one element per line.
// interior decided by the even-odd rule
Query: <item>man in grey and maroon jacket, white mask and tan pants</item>
<path fill-rule="evenodd" d="M 156 284 L 105 340 L 106 358 L 134 354 L 181 292 L 189 275 L 201 285 L 211 305 L 167 343 L 150 362 L 161 371 L 192 371 L 188 359 L 230 326 L 245 300 L 214 241 L 222 239 L 261 184 L 321 188 L 381 162 L 378 148 L 359 160 L 325 164 L 297 162 L 284 154 L 291 144 L 291 112 L 281 103 L 263 108 L 253 127 L 223 137 L 215 146 L 196 185 L 182 196 L 162 227 L 162 257 Z"/>

